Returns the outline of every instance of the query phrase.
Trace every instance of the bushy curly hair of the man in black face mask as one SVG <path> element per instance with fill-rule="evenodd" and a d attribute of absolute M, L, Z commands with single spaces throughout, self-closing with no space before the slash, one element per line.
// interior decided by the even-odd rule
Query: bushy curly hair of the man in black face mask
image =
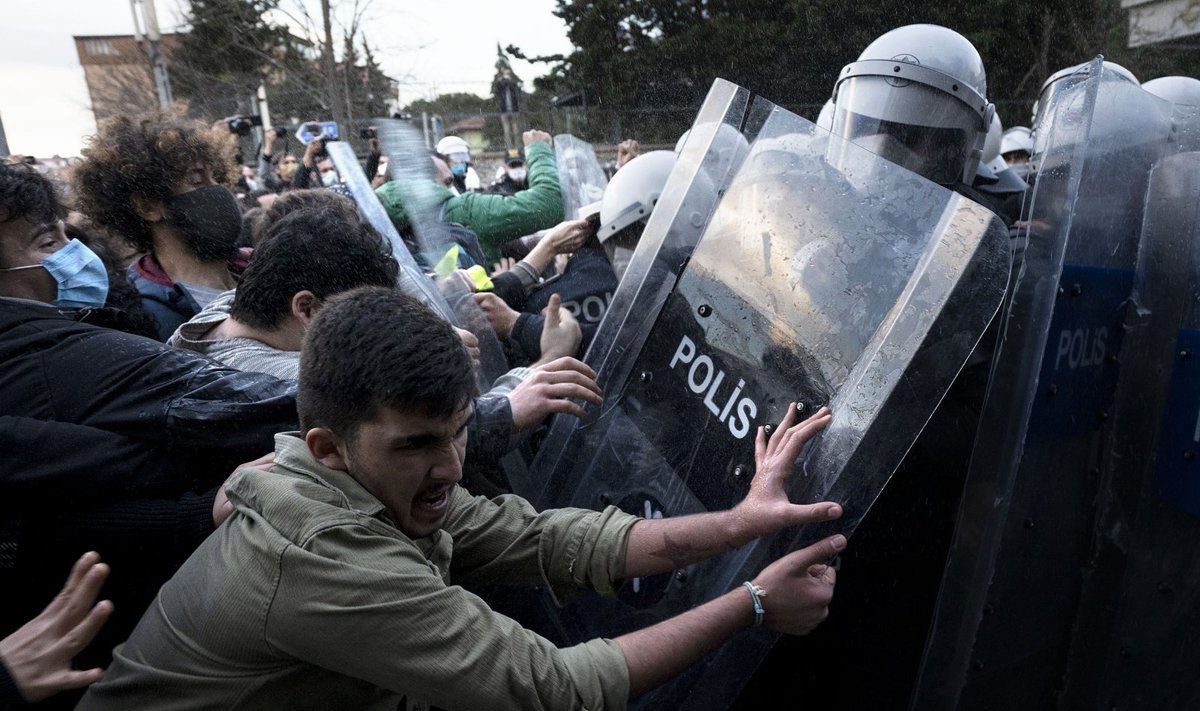
<path fill-rule="evenodd" d="M 166 202 L 173 186 L 197 165 L 210 171 L 217 183 L 228 183 L 232 136 L 174 112 L 102 121 L 72 178 L 79 210 L 149 252 L 154 247 L 150 226 L 134 208 L 133 196 Z"/>

